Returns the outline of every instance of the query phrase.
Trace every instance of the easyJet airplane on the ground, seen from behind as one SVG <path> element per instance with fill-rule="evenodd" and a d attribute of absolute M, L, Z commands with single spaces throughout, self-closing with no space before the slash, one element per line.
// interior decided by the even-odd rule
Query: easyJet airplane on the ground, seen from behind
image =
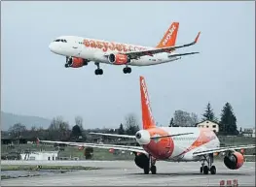
<path fill-rule="evenodd" d="M 150 100 L 145 78 L 140 77 L 140 97 L 143 129 L 134 136 L 91 133 L 97 136 L 128 138 L 140 146 L 115 145 L 103 143 L 68 142 L 39 140 L 38 142 L 59 143 L 69 146 L 103 148 L 109 150 L 125 150 L 134 153 L 134 162 L 145 174 L 151 171 L 156 174 L 158 160 L 172 162 L 201 162 L 200 171 L 203 174 L 216 173 L 213 165 L 214 155 L 222 153 L 224 164 L 230 170 L 238 170 L 244 162 L 241 150 L 254 148 L 255 144 L 221 147 L 220 141 L 213 131 L 198 127 L 158 127 L 150 107 Z M 240 150 L 240 152 L 239 152 Z"/>

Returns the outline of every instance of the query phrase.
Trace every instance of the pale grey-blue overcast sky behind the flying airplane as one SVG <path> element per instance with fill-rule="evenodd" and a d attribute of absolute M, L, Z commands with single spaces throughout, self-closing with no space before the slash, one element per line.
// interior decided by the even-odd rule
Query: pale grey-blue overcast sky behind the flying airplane
<path fill-rule="evenodd" d="M 219 117 L 230 102 L 238 126 L 254 126 L 254 2 L 2 2 L 1 109 L 86 127 L 117 127 L 133 112 L 141 120 L 139 76 L 146 78 L 155 119 L 167 125 L 175 109 L 200 118 L 209 101 Z M 172 21 L 179 21 L 177 44 L 200 54 L 151 67 L 92 63 L 65 69 L 63 56 L 48 46 L 60 35 L 76 35 L 155 47 Z"/>

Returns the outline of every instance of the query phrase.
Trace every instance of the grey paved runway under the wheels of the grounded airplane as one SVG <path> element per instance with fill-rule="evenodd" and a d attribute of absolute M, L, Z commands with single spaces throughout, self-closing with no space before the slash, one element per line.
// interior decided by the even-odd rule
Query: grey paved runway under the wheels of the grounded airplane
<path fill-rule="evenodd" d="M 255 163 L 231 171 L 215 162 L 217 173 L 201 174 L 201 163 L 157 162 L 157 174 L 143 174 L 132 161 L 1 161 L 1 165 L 62 165 L 100 167 L 95 171 L 71 171 L 51 176 L 5 179 L 2 186 L 219 186 L 220 180 L 238 179 L 239 186 L 255 186 Z"/>

